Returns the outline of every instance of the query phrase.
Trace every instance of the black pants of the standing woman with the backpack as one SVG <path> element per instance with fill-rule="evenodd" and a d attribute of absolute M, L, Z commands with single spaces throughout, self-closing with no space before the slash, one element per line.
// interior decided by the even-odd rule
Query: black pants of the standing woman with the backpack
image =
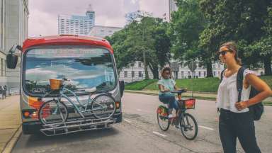
<path fill-rule="evenodd" d="M 254 119 L 249 112 L 234 113 L 220 109 L 219 134 L 225 153 L 236 153 L 237 137 L 244 152 L 261 152 L 256 142 Z"/>

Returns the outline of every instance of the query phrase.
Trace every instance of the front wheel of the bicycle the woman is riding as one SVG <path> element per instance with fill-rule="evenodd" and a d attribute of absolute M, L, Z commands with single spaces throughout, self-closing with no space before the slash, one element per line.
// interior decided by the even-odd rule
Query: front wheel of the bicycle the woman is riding
<path fill-rule="evenodd" d="M 183 113 L 183 118 L 180 120 L 181 133 L 187 140 L 194 140 L 198 135 L 198 123 L 193 115 Z"/>

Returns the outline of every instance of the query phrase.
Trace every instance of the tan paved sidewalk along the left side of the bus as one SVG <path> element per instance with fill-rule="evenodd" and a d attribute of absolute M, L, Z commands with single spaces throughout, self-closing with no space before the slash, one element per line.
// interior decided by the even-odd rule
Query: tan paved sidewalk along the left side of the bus
<path fill-rule="evenodd" d="M 0 152 L 11 152 L 20 134 L 20 96 L 0 99 Z"/>

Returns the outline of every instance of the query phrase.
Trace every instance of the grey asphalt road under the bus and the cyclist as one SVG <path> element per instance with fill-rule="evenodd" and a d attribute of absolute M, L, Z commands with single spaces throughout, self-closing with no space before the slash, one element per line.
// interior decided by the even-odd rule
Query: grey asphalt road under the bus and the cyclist
<path fill-rule="evenodd" d="M 181 131 L 170 127 L 159 130 L 157 96 L 125 93 L 123 123 L 108 130 L 80 132 L 72 135 L 45 137 L 21 135 L 13 152 L 222 152 L 218 135 L 215 101 L 198 100 L 196 110 L 189 113 L 199 125 L 196 140 L 186 140 Z M 256 122 L 256 134 L 262 152 L 271 152 L 272 108 L 265 107 L 262 119 Z M 238 143 L 239 144 L 239 143 Z M 238 152 L 243 152 L 238 145 Z"/>

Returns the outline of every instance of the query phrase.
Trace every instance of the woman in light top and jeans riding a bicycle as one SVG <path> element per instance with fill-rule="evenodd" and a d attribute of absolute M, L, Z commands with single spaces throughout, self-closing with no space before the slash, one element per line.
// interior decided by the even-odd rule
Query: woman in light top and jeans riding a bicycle
<path fill-rule="evenodd" d="M 176 86 L 176 81 L 171 77 L 171 68 L 164 67 L 161 72 L 162 79 L 158 81 L 159 85 L 159 101 L 168 104 L 169 116 L 168 118 L 174 118 L 172 115 L 173 108 L 176 112 L 179 110 L 178 102 L 176 101 L 175 95 L 171 91 L 180 90 Z"/>

